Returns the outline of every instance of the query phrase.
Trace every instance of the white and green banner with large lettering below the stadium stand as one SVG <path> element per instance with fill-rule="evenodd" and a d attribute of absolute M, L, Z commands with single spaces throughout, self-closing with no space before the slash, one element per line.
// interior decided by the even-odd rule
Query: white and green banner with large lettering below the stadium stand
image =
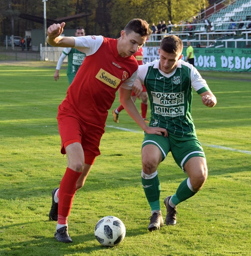
<path fill-rule="evenodd" d="M 186 48 L 182 57 L 185 60 Z M 251 72 L 251 49 L 245 48 L 194 48 L 194 66 L 197 70 Z M 158 59 L 158 47 L 144 47 L 143 61 Z"/>

